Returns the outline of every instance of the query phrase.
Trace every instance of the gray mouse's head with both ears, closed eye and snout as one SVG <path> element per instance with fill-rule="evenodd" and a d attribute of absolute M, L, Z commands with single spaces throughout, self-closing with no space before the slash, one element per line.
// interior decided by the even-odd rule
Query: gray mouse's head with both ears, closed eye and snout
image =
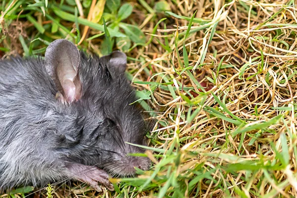
<path fill-rule="evenodd" d="M 135 92 L 125 76 L 127 56 L 87 57 L 67 40 L 52 42 L 45 56 L 47 72 L 57 91 L 57 103 L 73 117 L 63 126 L 59 150 L 68 161 L 97 165 L 117 176 L 147 170 L 146 157 L 131 156 L 144 150 L 127 144 L 143 145 L 148 132 L 142 111 L 132 104 Z M 67 127 L 68 126 L 68 127 Z"/>

